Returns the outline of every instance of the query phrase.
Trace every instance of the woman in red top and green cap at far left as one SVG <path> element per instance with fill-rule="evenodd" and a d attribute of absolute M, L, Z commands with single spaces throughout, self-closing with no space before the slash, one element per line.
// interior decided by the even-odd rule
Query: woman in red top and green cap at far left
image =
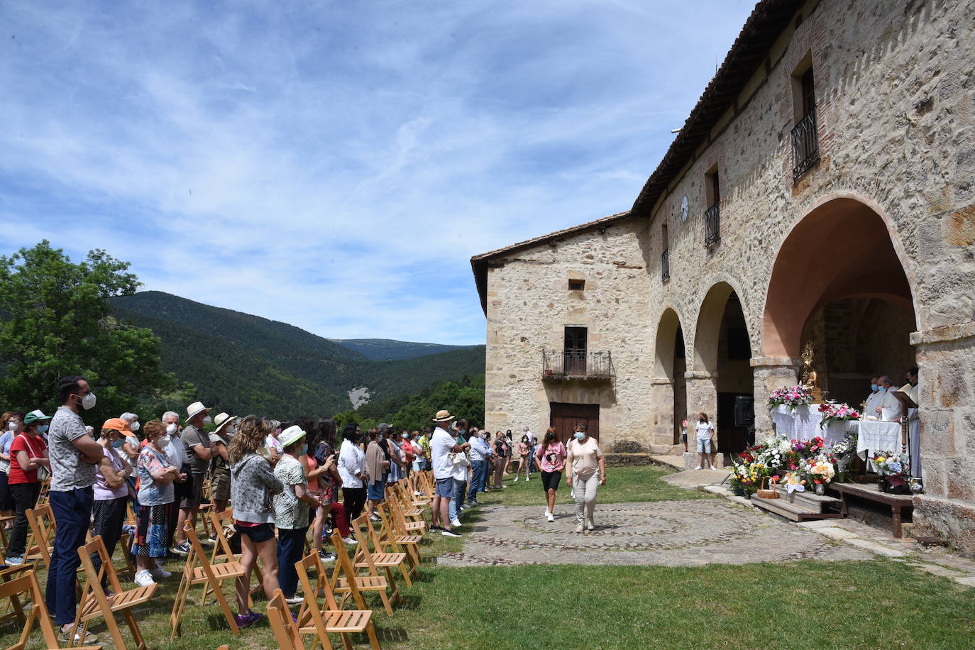
<path fill-rule="evenodd" d="M 27 542 L 28 509 L 37 505 L 41 493 L 41 481 L 37 478 L 37 468 L 50 468 L 48 446 L 38 435 L 38 427 L 47 430 L 51 418 L 39 410 L 30 411 L 23 418 L 23 432 L 18 434 L 10 445 L 10 491 L 14 497 L 14 529 L 7 545 L 7 563 L 23 563 L 23 547 Z M 50 470 L 49 470 L 50 472 Z"/>

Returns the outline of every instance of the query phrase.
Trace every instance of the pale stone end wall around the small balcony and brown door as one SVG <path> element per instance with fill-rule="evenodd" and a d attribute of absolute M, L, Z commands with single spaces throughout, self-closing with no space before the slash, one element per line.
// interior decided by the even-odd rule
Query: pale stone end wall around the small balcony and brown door
<path fill-rule="evenodd" d="M 646 326 L 648 249 L 630 219 L 494 260 L 487 273 L 487 429 L 541 432 L 549 403 L 600 404 L 600 440 L 650 443 L 651 349 Z M 584 280 L 581 291 L 568 279 Z M 565 326 L 588 328 L 588 349 L 608 351 L 613 382 L 542 379 L 542 351 L 562 350 Z M 669 442 L 669 440 L 668 440 Z"/>

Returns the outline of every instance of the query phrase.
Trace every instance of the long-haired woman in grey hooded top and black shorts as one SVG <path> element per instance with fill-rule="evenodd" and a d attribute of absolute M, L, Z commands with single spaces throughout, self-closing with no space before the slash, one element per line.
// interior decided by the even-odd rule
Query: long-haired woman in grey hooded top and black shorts
<path fill-rule="evenodd" d="M 280 426 L 280 425 L 278 425 Z M 260 454 L 274 428 L 267 420 L 248 415 L 237 427 L 230 442 L 230 501 L 234 505 L 234 525 L 241 538 L 241 566 L 244 575 L 237 579 L 237 626 L 245 628 L 260 620 L 251 611 L 251 572 L 260 557 L 264 572 L 264 595 L 270 600 L 278 585 L 277 544 L 274 539 L 274 508 L 271 496 L 280 494 L 284 484 L 274 476 L 271 464 Z"/>

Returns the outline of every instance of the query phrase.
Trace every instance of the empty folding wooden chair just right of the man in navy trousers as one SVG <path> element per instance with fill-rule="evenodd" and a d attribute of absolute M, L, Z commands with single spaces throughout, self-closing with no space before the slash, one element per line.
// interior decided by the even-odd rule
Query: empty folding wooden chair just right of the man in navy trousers
<path fill-rule="evenodd" d="M 93 554 L 97 554 L 101 560 L 101 566 L 98 567 L 98 570 L 95 569 L 95 562 L 92 561 Z M 81 600 L 78 602 L 74 626 L 71 627 L 69 636 L 73 638 L 80 625 L 80 635 L 84 638 L 88 633 L 89 622 L 100 617 L 105 620 L 105 625 L 108 626 L 108 632 L 112 636 L 116 650 L 125 650 L 127 647 L 125 639 L 115 621 L 115 612 L 122 612 L 126 623 L 129 625 L 129 631 L 132 632 L 132 637 L 136 641 L 136 647 L 138 650 L 146 650 L 145 640 L 142 638 L 141 632 L 138 631 L 136 616 L 132 613 L 132 609 L 148 602 L 159 585 L 153 583 L 145 587 L 123 591 L 119 577 L 115 573 L 115 567 L 112 566 L 112 558 L 108 554 L 108 550 L 105 549 L 104 540 L 101 539 L 100 535 L 78 549 L 78 555 L 81 556 L 81 565 L 85 568 L 87 580 L 81 591 Z M 105 591 L 101 587 L 102 578 L 107 579 L 112 591 L 115 592 L 113 595 L 105 595 Z"/>

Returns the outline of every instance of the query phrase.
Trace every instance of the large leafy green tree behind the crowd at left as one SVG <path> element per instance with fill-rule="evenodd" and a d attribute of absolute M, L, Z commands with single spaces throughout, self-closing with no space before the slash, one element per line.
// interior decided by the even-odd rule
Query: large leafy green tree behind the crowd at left
<path fill-rule="evenodd" d="M 0 403 L 23 409 L 57 407 L 60 377 L 88 378 L 98 396 L 86 414 L 93 425 L 126 410 L 152 409 L 192 386 L 159 366 L 151 329 L 110 316 L 108 299 L 130 295 L 140 283 L 129 263 L 92 250 L 75 264 L 41 242 L 0 256 Z M 138 411 L 137 411 L 138 412 Z M 145 414 L 157 415 L 153 411 Z M 143 416 L 143 417 L 145 417 Z"/>

